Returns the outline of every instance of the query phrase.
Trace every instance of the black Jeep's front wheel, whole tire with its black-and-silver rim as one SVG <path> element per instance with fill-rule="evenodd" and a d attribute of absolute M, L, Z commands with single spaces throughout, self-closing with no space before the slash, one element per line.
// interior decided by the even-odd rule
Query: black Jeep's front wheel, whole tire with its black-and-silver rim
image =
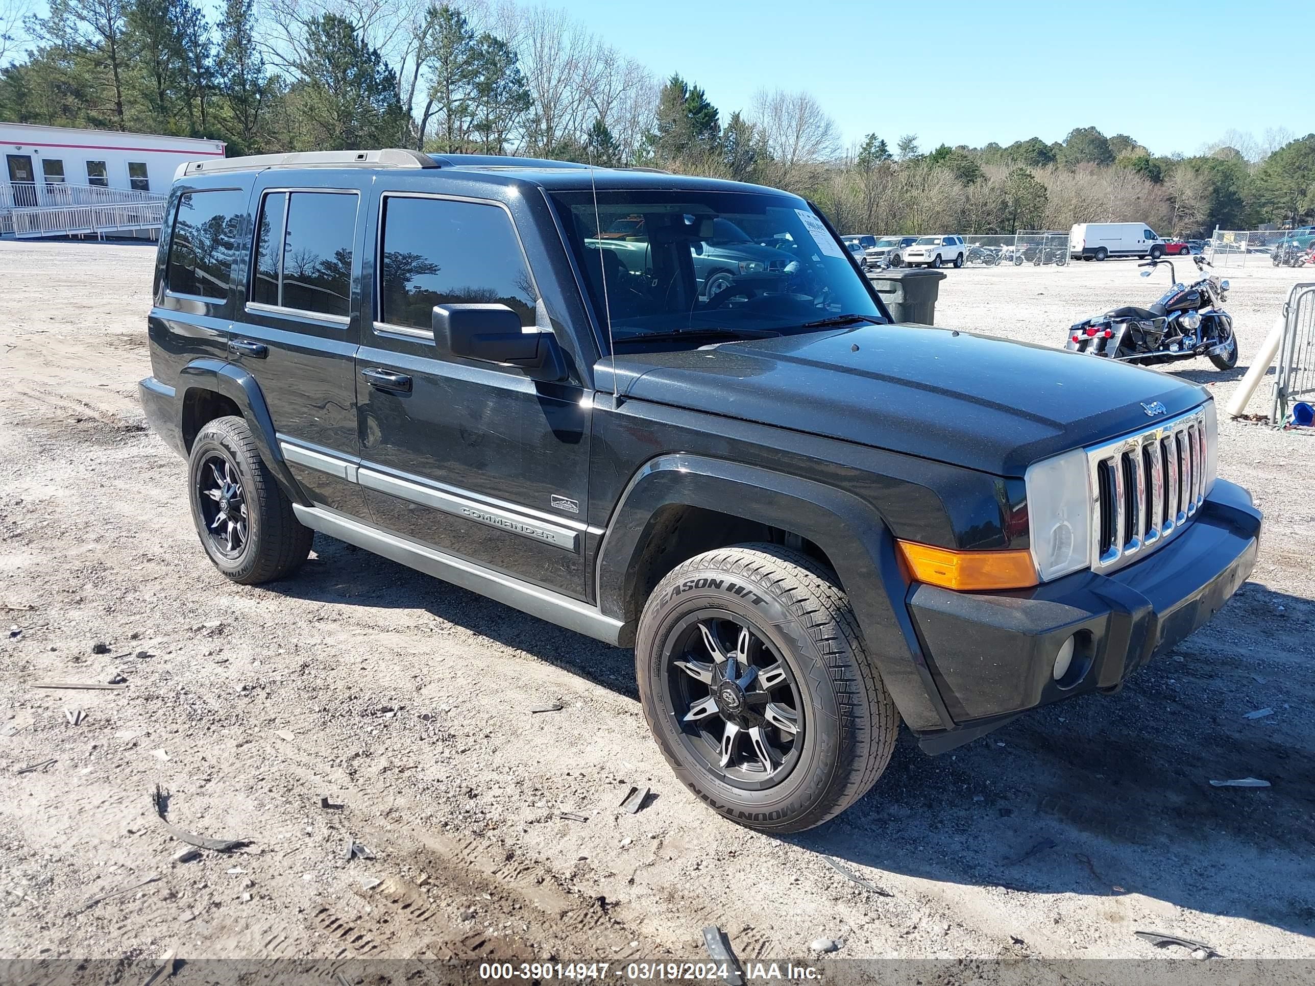
<path fill-rule="evenodd" d="M 718 655 L 750 682 L 729 698 L 721 670 L 730 661 Z M 802 552 L 740 544 L 676 567 L 639 618 L 635 670 L 644 718 L 676 776 L 748 828 L 827 822 L 872 787 L 894 751 L 899 718 L 849 601 Z M 768 676 L 776 684 L 764 690 Z M 794 732 L 773 724 L 786 713 Z"/>

